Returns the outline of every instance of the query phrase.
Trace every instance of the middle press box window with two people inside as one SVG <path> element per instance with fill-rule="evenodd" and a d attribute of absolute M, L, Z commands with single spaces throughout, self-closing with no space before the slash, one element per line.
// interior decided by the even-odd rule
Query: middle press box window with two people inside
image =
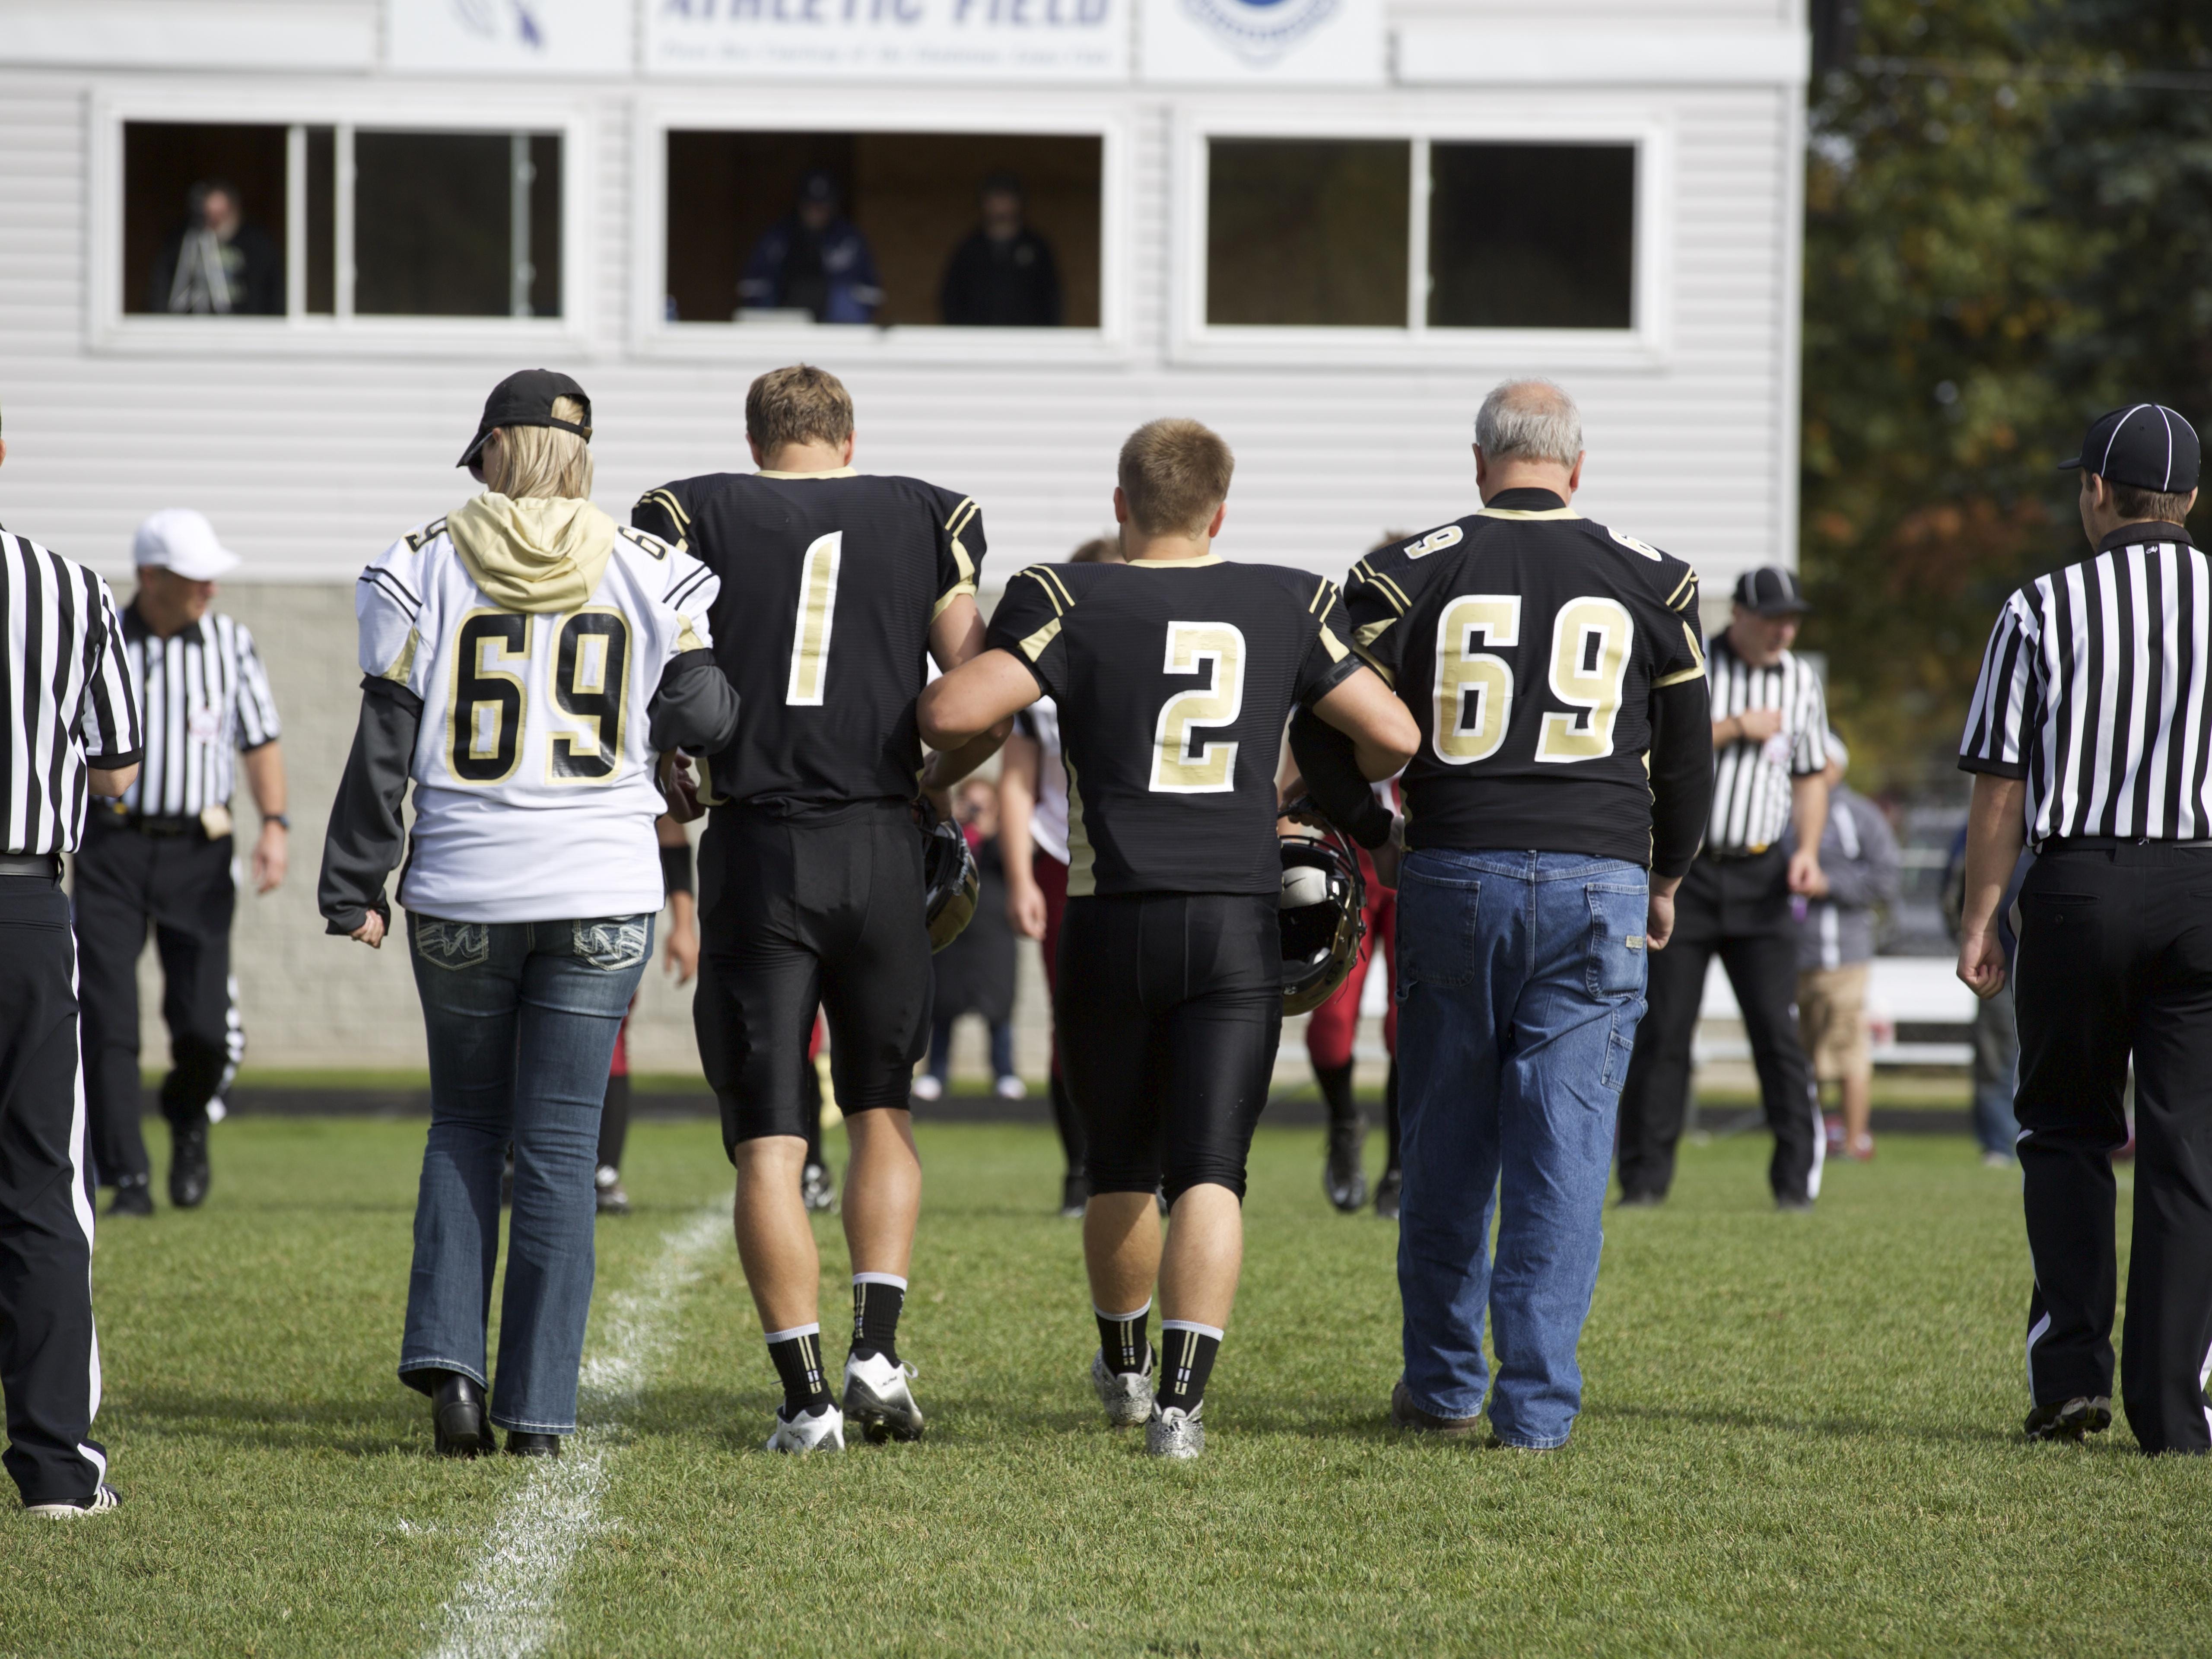
<path fill-rule="evenodd" d="M 670 323 L 1099 325 L 1097 137 L 668 133 Z"/>

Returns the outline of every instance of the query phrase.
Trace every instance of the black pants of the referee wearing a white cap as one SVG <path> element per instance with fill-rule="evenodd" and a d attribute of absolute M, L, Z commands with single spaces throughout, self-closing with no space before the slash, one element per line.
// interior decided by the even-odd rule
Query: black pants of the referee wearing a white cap
<path fill-rule="evenodd" d="M 137 960 L 153 927 L 170 1071 L 161 1115 L 206 1121 L 230 1064 L 230 836 L 148 834 L 91 812 L 75 858 L 84 1068 L 102 1186 L 144 1179 Z"/>

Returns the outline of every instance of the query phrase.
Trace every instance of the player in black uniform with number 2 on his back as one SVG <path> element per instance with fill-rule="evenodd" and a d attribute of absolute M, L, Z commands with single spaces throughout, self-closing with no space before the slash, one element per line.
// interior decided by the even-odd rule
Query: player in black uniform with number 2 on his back
<path fill-rule="evenodd" d="M 1053 697 L 1068 768 L 1068 909 L 1053 1018 L 1091 1144 L 1091 1376 L 1110 1422 L 1194 1458 L 1243 1261 L 1245 1155 L 1283 1031 L 1274 765 L 1310 708 L 1354 765 L 1413 750 L 1405 708 L 1352 653 L 1332 582 L 1212 555 L 1230 449 L 1194 420 L 1121 447 L 1126 564 L 1040 564 L 1006 584 L 989 650 L 922 692 L 958 748 Z M 1155 1188 L 1170 1223 L 1161 1250 Z M 1161 1303 L 1155 1398 L 1146 1336 Z"/>

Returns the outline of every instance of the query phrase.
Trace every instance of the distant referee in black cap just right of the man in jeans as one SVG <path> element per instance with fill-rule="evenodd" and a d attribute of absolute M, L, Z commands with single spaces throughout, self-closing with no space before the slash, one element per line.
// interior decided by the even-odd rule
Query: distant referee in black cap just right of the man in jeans
<path fill-rule="evenodd" d="M 1790 646 L 1809 608 L 1778 564 L 1745 571 L 1734 615 L 1712 637 L 1712 814 L 1705 849 L 1674 894 L 1674 938 L 1650 960 L 1650 1011 L 1621 1088 L 1621 1203 L 1666 1199 L 1690 1099 L 1690 1040 L 1714 953 L 1752 1040 L 1759 1097 L 1774 1130 L 1767 1181 L 1783 1210 L 1820 1192 L 1820 1099 L 1796 1022 L 1796 920 L 1790 896 L 1827 896 L 1827 701 Z M 1796 827 L 1796 852 L 1783 834 Z"/>

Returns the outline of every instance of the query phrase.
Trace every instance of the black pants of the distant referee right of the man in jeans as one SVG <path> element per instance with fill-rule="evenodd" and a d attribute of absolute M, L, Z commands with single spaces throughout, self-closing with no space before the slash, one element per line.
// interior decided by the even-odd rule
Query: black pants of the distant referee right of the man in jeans
<path fill-rule="evenodd" d="M 1774 1130 L 1767 1181 L 1776 1199 L 1820 1190 L 1820 1106 L 1796 1029 L 1796 922 L 1781 847 L 1750 858 L 1699 856 L 1674 889 L 1674 936 L 1650 953 L 1650 1011 L 1621 1088 L 1621 1197 L 1666 1197 L 1690 1102 L 1690 1042 L 1714 953 L 1743 1009 L 1759 1099 Z"/>

